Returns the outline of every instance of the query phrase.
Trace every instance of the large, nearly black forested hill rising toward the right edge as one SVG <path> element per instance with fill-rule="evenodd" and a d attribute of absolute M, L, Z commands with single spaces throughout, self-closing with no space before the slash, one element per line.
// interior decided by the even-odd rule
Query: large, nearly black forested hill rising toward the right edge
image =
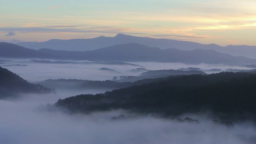
<path fill-rule="evenodd" d="M 222 119 L 256 120 L 256 74 L 221 72 L 174 76 L 104 94 L 81 94 L 58 100 L 70 112 L 125 109 L 176 116 L 212 111 Z"/>

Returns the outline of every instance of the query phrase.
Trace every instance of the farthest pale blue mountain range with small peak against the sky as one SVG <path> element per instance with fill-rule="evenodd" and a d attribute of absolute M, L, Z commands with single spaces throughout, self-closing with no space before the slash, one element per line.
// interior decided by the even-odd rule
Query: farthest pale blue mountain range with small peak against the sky
<path fill-rule="evenodd" d="M 125 34 L 117 34 L 114 37 L 100 36 L 97 38 L 89 39 L 71 39 L 71 40 L 58 40 L 52 39 L 46 42 L 18 42 L 19 46 L 24 46 L 30 49 L 48 48 L 52 50 L 69 50 L 69 51 L 86 51 L 96 50 L 117 44 L 138 43 L 149 47 L 157 47 L 160 49 L 176 48 L 178 50 L 215 50 L 217 52 L 231 54 L 232 56 L 245 56 L 248 58 L 256 58 L 256 46 L 247 45 L 228 45 L 219 46 L 217 44 L 200 44 L 197 42 L 170 40 L 170 39 L 156 39 L 148 37 L 130 36 Z"/>

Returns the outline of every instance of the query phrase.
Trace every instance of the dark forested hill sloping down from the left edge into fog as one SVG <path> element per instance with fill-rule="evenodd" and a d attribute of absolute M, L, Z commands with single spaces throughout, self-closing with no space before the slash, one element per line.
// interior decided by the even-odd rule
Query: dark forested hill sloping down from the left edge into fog
<path fill-rule="evenodd" d="M 47 88 L 40 84 L 31 84 L 10 72 L 6 68 L 0 67 L 0 98 L 16 96 L 20 93 L 55 93 L 55 89 Z"/>

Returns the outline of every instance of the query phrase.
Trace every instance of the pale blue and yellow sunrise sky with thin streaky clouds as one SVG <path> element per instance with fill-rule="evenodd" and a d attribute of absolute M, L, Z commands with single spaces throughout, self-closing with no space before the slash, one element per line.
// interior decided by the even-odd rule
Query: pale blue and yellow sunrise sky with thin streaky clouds
<path fill-rule="evenodd" d="M 256 46 L 255 0 L 0 0 L 0 42 L 113 37 Z"/>

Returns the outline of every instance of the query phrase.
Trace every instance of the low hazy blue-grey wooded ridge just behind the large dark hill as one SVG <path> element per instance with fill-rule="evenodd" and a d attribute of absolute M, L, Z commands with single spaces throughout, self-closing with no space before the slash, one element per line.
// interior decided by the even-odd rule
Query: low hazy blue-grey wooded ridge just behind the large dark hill
<path fill-rule="evenodd" d="M 151 72 L 151 71 L 148 71 Z M 143 73 L 142 73 L 143 74 Z M 154 74 L 154 75 L 153 75 Z M 120 76 L 118 80 L 77 80 L 77 79 L 57 79 L 44 80 L 35 82 L 48 87 L 60 89 L 99 89 L 99 88 L 126 88 L 134 85 L 142 85 L 150 82 L 166 80 L 168 76 L 189 75 L 189 74 L 206 74 L 198 70 L 182 71 L 182 70 L 152 70 L 152 73 L 144 74 L 144 76 Z M 117 77 L 116 77 L 117 78 Z M 169 77 L 170 78 L 170 77 Z"/>

